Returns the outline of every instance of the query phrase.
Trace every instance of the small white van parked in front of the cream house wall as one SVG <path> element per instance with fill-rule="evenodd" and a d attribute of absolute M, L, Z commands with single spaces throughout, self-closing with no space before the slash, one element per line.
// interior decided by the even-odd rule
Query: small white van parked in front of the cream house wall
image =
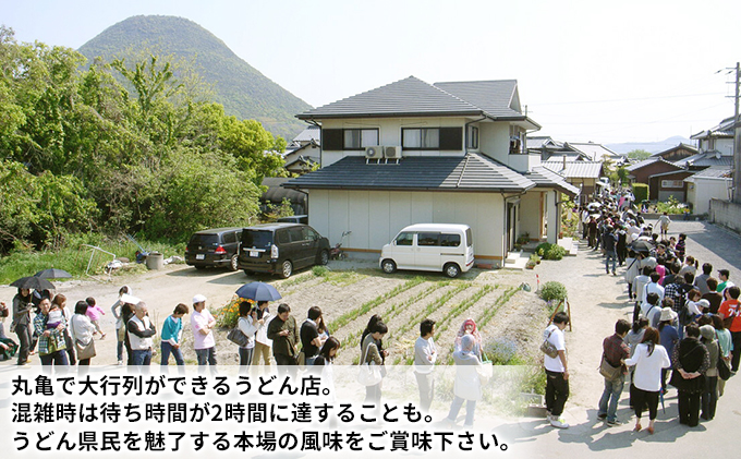
<path fill-rule="evenodd" d="M 378 264 L 388 274 L 397 269 L 418 269 L 458 277 L 473 266 L 471 228 L 448 224 L 409 226 L 390 244 L 384 245 Z"/>

